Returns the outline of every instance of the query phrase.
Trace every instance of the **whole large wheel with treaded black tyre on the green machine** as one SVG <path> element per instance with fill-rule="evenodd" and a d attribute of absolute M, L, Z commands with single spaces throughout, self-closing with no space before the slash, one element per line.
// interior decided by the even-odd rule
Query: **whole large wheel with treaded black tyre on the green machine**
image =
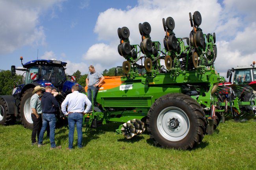
<path fill-rule="evenodd" d="M 147 130 L 155 144 L 187 150 L 202 141 L 206 134 L 206 117 L 202 107 L 190 96 L 167 94 L 150 107 Z"/>

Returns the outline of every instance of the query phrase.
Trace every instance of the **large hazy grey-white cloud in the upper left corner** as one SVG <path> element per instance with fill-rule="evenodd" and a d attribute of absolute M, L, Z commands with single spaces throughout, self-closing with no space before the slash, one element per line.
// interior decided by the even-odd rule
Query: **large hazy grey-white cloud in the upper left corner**
<path fill-rule="evenodd" d="M 62 2 L 0 0 L 0 54 L 11 53 L 26 45 L 44 45 L 45 31 L 40 26 L 39 15 L 53 5 L 60 9 Z"/>

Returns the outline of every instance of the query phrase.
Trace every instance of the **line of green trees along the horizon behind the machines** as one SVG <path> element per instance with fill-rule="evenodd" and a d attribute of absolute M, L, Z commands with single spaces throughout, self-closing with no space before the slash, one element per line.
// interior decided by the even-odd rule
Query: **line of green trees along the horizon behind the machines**
<path fill-rule="evenodd" d="M 122 68 L 117 68 L 117 73 L 115 73 L 116 68 L 105 69 L 102 72 L 103 76 L 121 76 L 125 75 Z M 25 75 L 25 74 L 24 74 Z M 81 74 L 81 71 L 77 70 L 71 76 L 76 77 L 76 82 L 81 86 L 85 87 L 88 74 Z M 66 74 L 67 80 L 71 80 L 71 77 Z M 12 95 L 14 86 L 24 84 L 25 77 L 23 75 L 11 75 L 10 70 L 0 69 L 0 95 Z"/>

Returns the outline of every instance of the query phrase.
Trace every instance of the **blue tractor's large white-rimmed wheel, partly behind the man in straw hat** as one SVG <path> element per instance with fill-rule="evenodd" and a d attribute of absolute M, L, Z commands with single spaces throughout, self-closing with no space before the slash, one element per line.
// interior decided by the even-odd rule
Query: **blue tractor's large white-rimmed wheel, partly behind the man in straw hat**
<path fill-rule="evenodd" d="M 32 97 L 32 92 L 33 92 L 33 88 L 30 88 L 28 90 L 26 90 L 22 97 L 21 97 L 21 102 L 20 102 L 20 120 L 22 125 L 25 128 L 29 128 L 32 129 L 33 128 L 33 121 L 31 118 L 31 113 L 32 110 L 30 108 L 30 99 Z"/>

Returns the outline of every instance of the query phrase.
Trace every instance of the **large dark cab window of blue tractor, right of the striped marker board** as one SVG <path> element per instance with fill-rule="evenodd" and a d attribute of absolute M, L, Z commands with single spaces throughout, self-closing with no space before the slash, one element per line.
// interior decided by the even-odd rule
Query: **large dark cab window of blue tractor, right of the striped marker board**
<path fill-rule="evenodd" d="M 65 71 L 63 67 L 42 66 L 41 78 L 50 81 L 54 86 L 60 86 L 65 80 Z"/>

